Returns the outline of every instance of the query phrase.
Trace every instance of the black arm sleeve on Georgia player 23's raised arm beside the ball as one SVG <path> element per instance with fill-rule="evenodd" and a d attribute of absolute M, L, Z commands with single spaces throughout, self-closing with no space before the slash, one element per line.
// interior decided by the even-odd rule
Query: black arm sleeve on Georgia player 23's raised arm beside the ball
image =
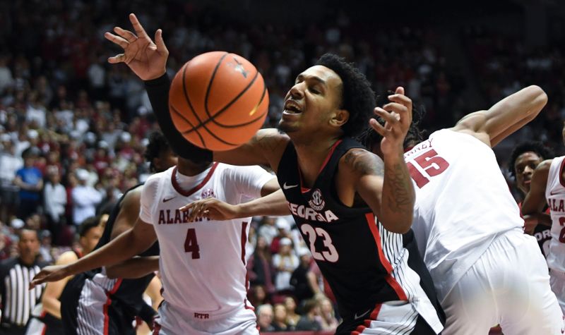
<path fill-rule="evenodd" d="M 157 118 L 157 123 L 161 127 L 161 131 L 169 142 L 172 151 L 184 159 L 192 162 L 212 162 L 212 152 L 196 147 L 189 140 L 179 133 L 179 130 L 172 123 L 171 114 L 169 114 L 169 87 L 171 80 L 167 73 L 160 78 L 145 81 L 145 89 L 149 96 L 153 113 Z"/>

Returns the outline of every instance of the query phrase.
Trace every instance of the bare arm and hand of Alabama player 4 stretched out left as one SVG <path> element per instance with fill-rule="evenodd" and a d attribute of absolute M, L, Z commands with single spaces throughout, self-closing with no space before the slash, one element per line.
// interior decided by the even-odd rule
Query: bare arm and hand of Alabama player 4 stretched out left
<path fill-rule="evenodd" d="M 48 281 L 59 281 L 66 276 L 129 260 L 138 253 L 147 250 L 155 243 L 155 240 L 157 240 L 157 236 L 153 226 L 138 219 L 133 228 L 114 238 L 102 248 L 90 252 L 80 260 L 67 265 L 44 267 L 33 277 L 30 288 Z"/>

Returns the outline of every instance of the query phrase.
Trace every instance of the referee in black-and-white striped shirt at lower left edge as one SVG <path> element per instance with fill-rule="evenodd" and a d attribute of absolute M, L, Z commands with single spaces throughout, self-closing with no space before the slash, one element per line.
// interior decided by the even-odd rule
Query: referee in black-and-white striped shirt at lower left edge
<path fill-rule="evenodd" d="M 38 260 L 40 241 L 37 231 L 19 231 L 17 257 L 0 262 L 1 322 L 0 335 L 25 334 L 31 311 L 40 303 L 44 285 L 29 289 L 33 276 L 47 265 Z"/>

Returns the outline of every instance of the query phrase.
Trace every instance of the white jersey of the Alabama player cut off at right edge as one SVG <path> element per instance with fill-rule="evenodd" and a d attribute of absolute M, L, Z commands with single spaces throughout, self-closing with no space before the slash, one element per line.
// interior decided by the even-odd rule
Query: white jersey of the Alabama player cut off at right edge
<path fill-rule="evenodd" d="M 552 217 L 552 239 L 549 241 L 549 269 L 565 272 L 565 181 L 561 178 L 565 156 L 554 158 L 549 166 L 545 198 Z"/>

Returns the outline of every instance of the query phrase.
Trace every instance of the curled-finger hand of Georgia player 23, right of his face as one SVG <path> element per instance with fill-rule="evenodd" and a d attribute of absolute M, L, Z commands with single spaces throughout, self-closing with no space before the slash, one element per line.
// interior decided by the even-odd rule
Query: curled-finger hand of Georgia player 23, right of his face
<path fill-rule="evenodd" d="M 369 125 L 383 136 L 381 151 L 384 155 L 403 152 L 404 139 L 412 123 L 412 100 L 404 95 L 404 88 L 398 87 L 395 94 L 388 96 L 389 102 L 374 112 L 385 121 L 384 126 L 371 118 Z"/>

